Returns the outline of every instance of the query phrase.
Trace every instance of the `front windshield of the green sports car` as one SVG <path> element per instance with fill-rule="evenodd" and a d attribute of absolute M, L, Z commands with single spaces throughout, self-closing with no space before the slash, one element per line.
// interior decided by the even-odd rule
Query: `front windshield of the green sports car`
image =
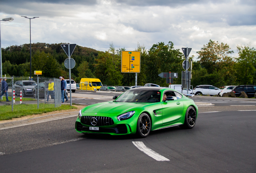
<path fill-rule="evenodd" d="M 116 102 L 155 103 L 160 101 L 160 97 L 160 91 L 129 90 L 116 99 Z"/>

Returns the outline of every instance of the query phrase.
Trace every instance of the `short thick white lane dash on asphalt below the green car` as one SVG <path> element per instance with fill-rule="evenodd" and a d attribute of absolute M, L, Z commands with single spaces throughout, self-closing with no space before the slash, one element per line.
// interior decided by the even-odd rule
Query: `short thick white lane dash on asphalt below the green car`
<path fill-rule="evenodd" d="M 153 159 L 157 160 L 157 161 L 170 161 L 169 159 L 163 157 L 162 155 L 159 155 L 157 152 L 153 151 L 152 149 L 150 149 L 149 147 L 147 147 L 146 145 L 144 145 L 143 142 L 140 141 L 132 141 L 132 143 L 143 153 L 147 154 L 148 156 L 152 157 Z"/>

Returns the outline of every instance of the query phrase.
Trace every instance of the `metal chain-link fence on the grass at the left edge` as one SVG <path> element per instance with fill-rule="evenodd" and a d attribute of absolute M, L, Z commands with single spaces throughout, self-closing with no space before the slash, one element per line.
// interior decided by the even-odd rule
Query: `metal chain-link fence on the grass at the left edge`
<path fill-rule="evenodd" d="M 2 77 L 0 113 L 61 106 L 60 79 Z"/>

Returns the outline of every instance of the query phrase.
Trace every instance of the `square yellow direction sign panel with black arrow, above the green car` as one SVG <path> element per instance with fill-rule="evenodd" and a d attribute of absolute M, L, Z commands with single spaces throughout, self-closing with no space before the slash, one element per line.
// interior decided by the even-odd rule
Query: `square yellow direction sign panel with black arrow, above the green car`
<path fill-rule="evenodd" d="M 140 72 L 140 51 L 122 51 L 121 72 Z"/>

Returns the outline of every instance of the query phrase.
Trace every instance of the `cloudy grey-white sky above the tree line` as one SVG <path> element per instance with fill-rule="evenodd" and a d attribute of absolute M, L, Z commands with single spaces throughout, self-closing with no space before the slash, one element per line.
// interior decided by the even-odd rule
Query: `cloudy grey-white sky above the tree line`
<path fill-rule="evenodd" d="M 256 48 L 255 0 L 1 0 L 1 45 L 31 42 L 75 43 L 106 51 L 109 44 L 149 50 L 169 41 L 176 49 L 192 48 L 197 57 L 209 40 Z"/>

